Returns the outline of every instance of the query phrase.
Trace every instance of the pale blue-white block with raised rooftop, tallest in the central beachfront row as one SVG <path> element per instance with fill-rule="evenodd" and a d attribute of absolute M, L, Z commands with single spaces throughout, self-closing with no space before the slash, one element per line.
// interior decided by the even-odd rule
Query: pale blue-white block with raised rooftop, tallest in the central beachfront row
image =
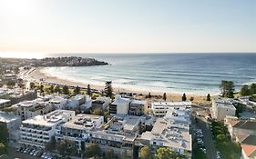
<path fill-rule="evenodd" d="M 110 114 L 128 114 L 130 99 L 123 98 L 121 95 L 115 96 L 115 101 L 109 105 Z"/>

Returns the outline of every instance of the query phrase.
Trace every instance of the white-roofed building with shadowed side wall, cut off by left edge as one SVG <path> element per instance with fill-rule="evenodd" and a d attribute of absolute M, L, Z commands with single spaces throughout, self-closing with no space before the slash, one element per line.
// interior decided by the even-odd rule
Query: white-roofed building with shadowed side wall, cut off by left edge
<path fill-rule="evenodd" d="M 16 116 L 14 114 L 7 114 L 5 112 L 0 111 L 0 124 L 6 126 L 9 134 L 9 143 L 17 144 L 19 140 L 19 127 L 21 125 L 20 116 Z"/>

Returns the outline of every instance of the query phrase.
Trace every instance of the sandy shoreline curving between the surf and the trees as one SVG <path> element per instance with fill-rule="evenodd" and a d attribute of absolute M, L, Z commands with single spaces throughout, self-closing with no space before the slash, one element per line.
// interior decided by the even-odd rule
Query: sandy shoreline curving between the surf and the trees
<path fill-rule="evenodd" d="M 43 67 L 36 67 L 33 70 L 29 70 L 24 74 L 24 78 L 27 81 L 34 81 L 36 83 L 52 83 L 52 84 L 66 84 L 68 86 L 80 86 L 80 87 L 87 87 L 87 83 L 81 83 L 81 82 L 77 82 L 77 81 L 72 81 L 72 80 L 67 80 L 67 79 L 62 79 L 62 78 L 58 78 L 56 76 L 51 76 L 51 75 L 47 75 L 46 73 L 44 73 L 42 71 Z M 40 79 L 43 79 L 43 81 L 40 81 Z M 103 90 L 104 89 L 104 85 L 97 85 L 97 84 L 90 84 L 90 87 L 92 89 L 96 89 L 96 90 Z M 120 87 L 113 87 L 113 90 L 115 93 L 118 92 L 132 92 L 132 93 L 136 93 L 136 94 L 148 94 L 148 91 L 146 90 L 141 90 L 141 89 L 132 89 L 132 88 L 120 88 Z M 159 92 L 159 91 L 151 91 L 150 94 L 151 95 L 162 95 L 164 92 Z M 181 100 L 181 96 L 182 93 L 169 93 L 166 92 L 167 96 L 168 96 L 168 100 L 170 101 L 180 101 Z M 191 94 L 191 93 L 186 93 L 187 99 L 189 100 L 189 98 L 192 96 L 194 98 L 194 102 L 195 103 L 204 103 L 202 101 L 205 101 L 206 95 L 203 94 Z M 216 95 L 216 94 L 212 94 L 212 95 Z"/>

